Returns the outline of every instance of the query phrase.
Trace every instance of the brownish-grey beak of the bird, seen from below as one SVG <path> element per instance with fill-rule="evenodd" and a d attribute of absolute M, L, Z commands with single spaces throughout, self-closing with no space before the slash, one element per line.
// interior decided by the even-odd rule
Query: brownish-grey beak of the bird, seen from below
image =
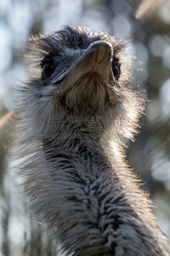
<path fill-rule="evenodd" d="M 112 55 L 113 51 L 110 43 L 105 41 L 94 42 L 85 50 L 73 66 L 63 70 L 52 83 L 56 85 L 63 81 L 65 86 L 60 94 L 64 94 L 83 76 L 95 73 L 100 77 L 102 83 L 105 84 L 107 95 L 113 100 L 113 93 L 109 90 L 111 87 L 109 80 L 115 81 L 111 67 Z"/>

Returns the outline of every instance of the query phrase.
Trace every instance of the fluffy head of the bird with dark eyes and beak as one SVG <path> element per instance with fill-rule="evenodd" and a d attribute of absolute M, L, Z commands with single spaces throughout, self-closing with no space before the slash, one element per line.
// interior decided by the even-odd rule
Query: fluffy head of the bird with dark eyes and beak
<path fill-rule="evenodd" d="M 102 116 L 103 130 L 112 116 L 114 122 L 124 120 L 116 127 L 131 138 L 141 107 L 127 83 L 131 60 L 125 45 L 107 32 L 80 27 L 32 36 L 25 54 L 32 78 L 24 89 L 24 105 L 34 132 L 47 130 L 49 116 L 64 117 L 66 126 L 68 116 L 81 116 L 84 130 L 89 116 Z"/>

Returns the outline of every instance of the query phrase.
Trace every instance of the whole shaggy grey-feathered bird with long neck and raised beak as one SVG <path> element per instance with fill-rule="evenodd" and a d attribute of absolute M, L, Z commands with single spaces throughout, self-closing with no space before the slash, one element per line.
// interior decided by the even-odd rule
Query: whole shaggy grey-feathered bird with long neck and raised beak
<path fill-rule="evenodd" d="M 32 36 L 26 45 L 17 175 L 64 255 L 169 255 L 152 203 L 125 161 L 144 109 L 129 84 L 126 47 L 80 27 Z"/>

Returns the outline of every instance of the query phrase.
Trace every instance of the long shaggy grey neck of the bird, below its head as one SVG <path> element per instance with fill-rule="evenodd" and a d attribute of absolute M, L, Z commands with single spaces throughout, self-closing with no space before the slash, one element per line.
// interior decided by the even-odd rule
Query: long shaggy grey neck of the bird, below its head
<path fill-rule="evenodd" d="M 25 187 L 66 255 L 164 255 L 150 201 L 111 145 L 73 139 L 40 151 Z"/>

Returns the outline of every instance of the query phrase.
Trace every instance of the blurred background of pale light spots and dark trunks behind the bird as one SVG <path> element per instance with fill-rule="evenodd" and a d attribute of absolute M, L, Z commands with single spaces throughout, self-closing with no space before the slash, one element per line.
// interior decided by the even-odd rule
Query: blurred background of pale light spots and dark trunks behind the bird
<path fill-rule="evenodd" d="M 132 84 L 147 100 L 142 128 L 129 144 L 127 160 L 144 180 L 161 228 L 170 236 L 170 0 L 0 1 L 0 255 L 56 255 L 55 243 L 20 198 L 8 175 L 8 148 L 15 120 L 15 88 L 26 79 L 19 52 L 32 34 L 63 25 L 107 30 L 132 38 Z M 130 36 L 130 37 L 129 37 Z"/>

